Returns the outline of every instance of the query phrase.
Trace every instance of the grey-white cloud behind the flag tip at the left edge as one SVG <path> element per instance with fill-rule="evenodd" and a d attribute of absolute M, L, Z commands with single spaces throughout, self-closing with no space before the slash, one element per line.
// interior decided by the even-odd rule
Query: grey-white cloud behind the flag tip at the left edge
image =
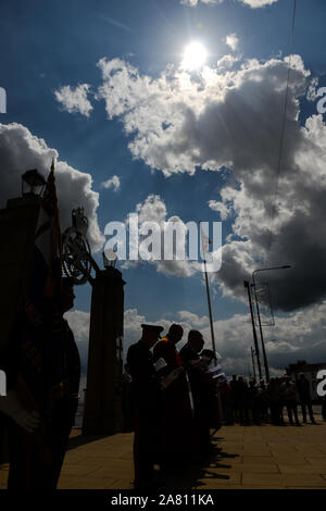
<path fill-rule="evenodd" d="M 5 207 L 8 199 L 21 195 L 25 171 L 37 169 L 47 178 L 54 158 L 62 230 L 72 225 L 72 210 L 83 205 L 89 221 L 88 240 L 92 250 L 99 251 L 104 238 L 98 225 L 99 195 L 91 189 L 91 175 L 60 161 L 55 149 L 49 148 L 43 139 L 32 135 L 22 124 L 0 124 L 0 148 L 1 208 Z"/>

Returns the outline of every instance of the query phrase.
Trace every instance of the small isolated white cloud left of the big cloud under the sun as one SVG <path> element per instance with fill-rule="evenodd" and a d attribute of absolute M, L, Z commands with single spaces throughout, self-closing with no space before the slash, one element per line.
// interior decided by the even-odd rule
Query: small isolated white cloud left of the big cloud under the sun
<path fill-rule="evenodd" d="M 88 100 L 87 95 L 90 86 L 88 84 L 80 84 L 77 87 L 71 87 L 65 85 L 59 90 L 54 90 L 55 99 L 62 104 L 63 110 L 70 113 L 80 113 L 86 117 L 89 117 L 92 111 L 92 104 Z"/>

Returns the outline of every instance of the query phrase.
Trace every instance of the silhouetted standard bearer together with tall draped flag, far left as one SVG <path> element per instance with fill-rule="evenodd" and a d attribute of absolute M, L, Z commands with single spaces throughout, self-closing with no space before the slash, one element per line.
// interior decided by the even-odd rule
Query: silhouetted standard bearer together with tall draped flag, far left
<path fill-rule="evenodd" d="M 10 416 L 9 489 L 54 489 L 74 422 L 79 353 L 63 319 L 74 304 L 62 278 L 54 163 L 42 194 L 24 310 L 11 334 L 7 371 Z"/>

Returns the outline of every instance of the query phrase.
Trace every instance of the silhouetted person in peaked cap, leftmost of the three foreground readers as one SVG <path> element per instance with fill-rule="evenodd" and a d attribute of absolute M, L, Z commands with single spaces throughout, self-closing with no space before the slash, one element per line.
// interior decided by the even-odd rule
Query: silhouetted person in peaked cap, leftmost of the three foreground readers
<path fill-rule="evenodd" d="M 131 392 L 135 414 L 134 468 L 135 488 L 154 485 L 158 414 L 160 409 L 160 378 L 153 365 L 150 349 L 160 338 L 162 326 L 142 324 L 141 339 L 127 353 L 128 371 L 133 378 Z"/>

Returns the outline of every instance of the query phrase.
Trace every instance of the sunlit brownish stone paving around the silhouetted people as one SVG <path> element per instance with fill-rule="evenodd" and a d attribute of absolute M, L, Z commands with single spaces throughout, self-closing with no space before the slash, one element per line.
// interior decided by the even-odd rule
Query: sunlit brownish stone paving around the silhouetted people
<path fill-rule="evenodd" d="M 211 463 L 189 466 L 164 487 L 326 489 L 326 423 L 316 419 L 318 426 L 223 426 L 214 436 Z M 131 488 L 131 447 L 133 434 L 84 438 L 75 429 L 59 488 Z M 2 465 L 0 488 L 7 471 Z"/>

